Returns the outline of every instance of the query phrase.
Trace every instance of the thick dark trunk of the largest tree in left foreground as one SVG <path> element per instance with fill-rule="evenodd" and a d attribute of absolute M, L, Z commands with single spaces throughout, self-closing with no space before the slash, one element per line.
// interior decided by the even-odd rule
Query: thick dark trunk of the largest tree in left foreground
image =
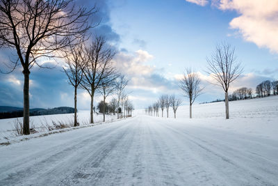
<path fill-rule="evenodd" d="M 23 70 L 24 74 L 24 87 L 23 87 L 23 134 L 28 135 L 30 134 L 29 129 L 29 75 L 30 71 Z"/>

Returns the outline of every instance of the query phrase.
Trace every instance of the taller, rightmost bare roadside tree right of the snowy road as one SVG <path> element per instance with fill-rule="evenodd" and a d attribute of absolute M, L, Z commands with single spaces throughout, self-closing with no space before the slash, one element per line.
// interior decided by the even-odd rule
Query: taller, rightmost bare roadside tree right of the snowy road
<path fill-rule="evenodd" d="M 212 83 L 221 86 L 225 93 L 226 118 L 229 119 L 229 86 L 243 72 L 243 68 L 236 59 L 235 49 L 231 45 L 222 42 L 216 45 L 211 58 L 207 58 L 208 74 L 216 81 Z"/>

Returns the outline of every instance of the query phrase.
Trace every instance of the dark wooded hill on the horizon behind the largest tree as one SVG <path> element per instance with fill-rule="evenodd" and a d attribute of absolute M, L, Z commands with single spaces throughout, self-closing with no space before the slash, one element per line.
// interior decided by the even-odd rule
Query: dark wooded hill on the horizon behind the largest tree
<path fill-rule="evenodd" d="M 74 113 L 72 107 L 56 107 L 53 109 L 35 108 L 30 109 L 30 116 L 42 116 L 51 114 L 70 114 Z M 23 108 L 0 106 L 0 119 L 4 118 L 17 118 L 23 116 Z"/>

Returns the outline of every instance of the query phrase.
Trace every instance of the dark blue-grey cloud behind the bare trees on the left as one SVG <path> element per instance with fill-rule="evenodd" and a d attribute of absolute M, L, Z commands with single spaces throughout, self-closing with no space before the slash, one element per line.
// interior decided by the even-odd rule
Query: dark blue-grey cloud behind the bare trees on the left
<path fill-rule="evenodd" d="M 110 8 L 107 0 L 77 0 L 76 6 L 85 8 L 97 7 L 97 13 L 90 17 L 90 21 L 97 24 L 90 32 L 101 34 L 111 42 L 120 40 L 120 36 L 113 31 L 110 24 Z M 15 53 L 15 52 L 14 52 Z M 4 62 L 10 63 L 10 59 L 17 59 L 10 49 L 0 50 L 0 68 L 8 71 Z M 67 77 L 62 72 L 62 68 L 57 66 L 52 70 L 40 69 L 38 67 L 31 70 L 30 85 L 30 105 L 31 107 L 59 107 L 74 105 L 73 88 L 67 83 Z M 21 65 L 9 75 L 0 73 L 0 105 L 22 107 L 23 105 L 23 82 Z M 83 90 L 79 90 L 83 93 Z M 82 96 L 81 94 L 79 96 Z M 81 98 L 82 99 L 82 98 Z M 79 104 L 79 109 L 88 109 L 90 103 L 83 101 Z"/>

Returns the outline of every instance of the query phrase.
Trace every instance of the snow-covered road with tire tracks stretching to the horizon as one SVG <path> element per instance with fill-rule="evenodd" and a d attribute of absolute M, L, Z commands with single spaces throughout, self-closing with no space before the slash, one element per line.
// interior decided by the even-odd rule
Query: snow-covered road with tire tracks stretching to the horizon
<path fill-rule="evenodd" d="M 278 185 L 278 141 L 136 116 L 0 146 L 0 185 Z"/>

